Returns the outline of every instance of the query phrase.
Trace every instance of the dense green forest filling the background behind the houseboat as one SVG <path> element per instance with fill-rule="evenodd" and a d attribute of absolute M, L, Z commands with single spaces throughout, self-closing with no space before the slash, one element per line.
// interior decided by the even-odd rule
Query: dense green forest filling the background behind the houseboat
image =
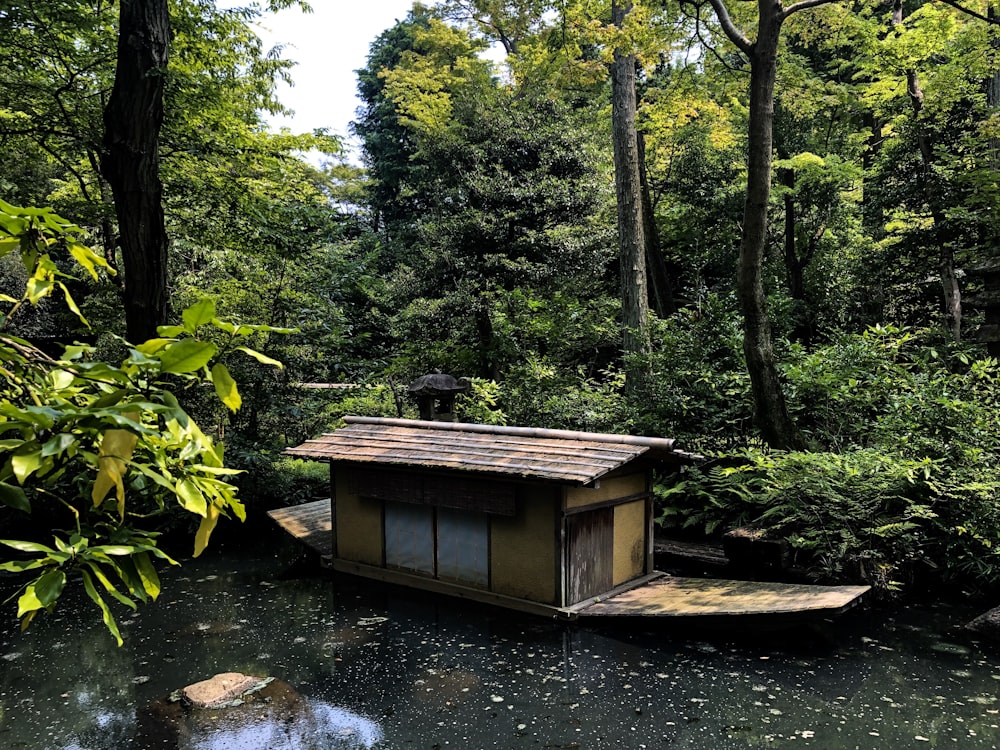
<path fill-rule="evenodd" d="M 400 386 L 440 370 L 472 379 L 470 421 L 670 435 L 727 455 L 659 488 L 675 530 L 756 524 L 817 576 L 885 587 L 930 569 L 995 574 L 990 2 L 416 3 L 356 71 L 361 166 L 327 132 L 266 125 L 295 69 L 254 23 L 301 4 L 136 13 L 156 5 L 0 3 L 5 361 L 30 369 L 42 355 L 24 346 L 58 357 L 79 339 L 77 358 L 141 369 L 122 336 L 154 359 L 166 345 L 141 339 L 204 338 L 213 356 L 245 340 L 253 356 L 225 375 L 214 359 L 195 368 L 220 401 L 156 387 L 182 391 L 185 414 L 225 442 L 251 503 L 312 478 L 284 447 L 348 412 L 413 414 Z M 126 24 L 159 36 L 119 46 Z M 142 57 L 135 38 L 166 46 Z M 116 92 L 129 85 L 148 107 Z M 52 207 L 82 239 L 67 224 L 31 234 L 51 264 L 39 271 L 19 206 Z M 93 275 L 73 271 L 77 245 Z M 185 309 L 202 313 L 157 332 Z M 73 526 L 60 502 L 77 519 L 100 503 L 53 503 L 43 459 L 72 449 L 12 416 L 29 398 L 16 372 L 5 366 L 0 511 L 6 524 L 30 504 L 51 536 Z M 364 387 L 299 387 L 316 382 Z M 130 421 L 129 398 L 114 429 L 170 431 Z M 108 439 L 91 434 L 92 450 Z M 58 482 L 101 471 L 76 470 Z M 149 482 L 126 461 L 112 510 Z M 236 507 L 203 502 L 180 499 L 203 519 Z M 167 506 L 156 523 L 184 526 Z"/>

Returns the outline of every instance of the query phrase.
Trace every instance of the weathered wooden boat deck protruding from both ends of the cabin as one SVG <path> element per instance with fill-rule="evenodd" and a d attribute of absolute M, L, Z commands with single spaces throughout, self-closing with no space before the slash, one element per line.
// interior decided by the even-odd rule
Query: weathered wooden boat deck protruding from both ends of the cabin
<path fill-rule="evenodd" d="M 281 528 L 318 552 L 329 562 L 333 558 L 333 534 L 330 501 L 317 500 L 291 508 L 268 511 Z M 477 601 L 498 604 L 512 609 L 510 597 L 497 597 L 487 591 L 456 587 L 422 576 L 403 576 L 382 568 L 359 566 L 348 561 L 333 560 L 338 570 L 356 575 L 379 578 L 402 585 L 417 585 L 440 593 L 452 593 Z M 362 570 L 361 568 L 365 568 Z M 594 621 L 609 618 L 663 618 L 670 622 L 722 624 L 735 627 L 746 623 L 785 623 L 803 619 L 819 619 L 839 614 L 857 604 L 868 586 L 809 586 L 794 583 L 763 583 L 758 581 L 727 581 L 712 578 L 678 578 L 662 573 L 637 582 L 634 588 L 609 592 L 607 595 L 581 602 L 573 607 L 545 607 L 523 602 L 536 610 L 566 619 Z M 634 585 L 636 582 L 630 583 Z M 510 600 L 510 601 L 507 601 Z M 520 600 L 518 600 L 520 601 Z M 534 611 L 534 610 L 532 610 Z"/>

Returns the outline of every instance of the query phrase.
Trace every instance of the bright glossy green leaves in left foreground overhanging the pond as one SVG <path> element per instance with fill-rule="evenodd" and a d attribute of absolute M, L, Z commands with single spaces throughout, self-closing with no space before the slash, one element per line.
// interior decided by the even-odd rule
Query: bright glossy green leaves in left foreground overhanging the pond
<path fill-rule="evenodd" d="M 26 300 L 37 302 L 55 288 L 65 291 L 50 252 L 68 247 L 91 274 L 103 260 L 75 238 L 79 230 L 44 209 L 0 203 L 0 251 L 20 252 L 30 279 L 4 322 Z M 67 303 L 76 309 L 66 293 Z M 135 608 L 155 599 L 157 557 L 174 561 L 157 546 L 149 519 L 180 509 L 199 518 L 194 555 L 205 549 L 222 516 L 245 517 L 229 478 L 221 443 L 206 435 L 181 407 L 175 392 L 211 386 L 232 411 L 242 396 L 222 361 L 241 352 L 280 364 L 244 345 L 266 326 L 219 320 L 215 305 L 198 302 L 180 325 L 160 337 L 128 346 L 113 364 L 93 357 L 94 347 L 66 346 L 52 358 L 14 336 L 0 336 L 0 503 L 24 514 L 43 514 L 42 533 L 52 546 L 32 540 L 0 543 L 26 557 L 0 569 L 35 576 L 20 588 L 18 617 L 26 628 L 40 611 L 51 611 L 71 576 L 78 574 L 121 643 L 106 597 Z M 221 335 L 221 343 L 211 340 Z M 124 343 L 124 342 L 123 342 Z"/>

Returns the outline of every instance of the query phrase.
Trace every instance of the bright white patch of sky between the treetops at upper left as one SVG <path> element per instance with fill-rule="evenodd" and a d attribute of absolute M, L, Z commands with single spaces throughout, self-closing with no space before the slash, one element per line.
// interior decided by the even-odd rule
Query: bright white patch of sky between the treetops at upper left
<path fill-rule="evenodd" d="M 289 8 L 265 16 L 257 30 L 265 48 L 284 44 L 282 57 L 298 63 L 291 71 L 295 86 L 278 89 L 279 100 L 295 115 L 270 122 L 274 128 L 288 126 L 295 132 L 329 128 L 347 138 L 348 123 L 360 104 L 354 71 L 364 67 L 375 37 L 406 18 L 413 0 L 310 0 L 309 4 L 312 13 Z"/>

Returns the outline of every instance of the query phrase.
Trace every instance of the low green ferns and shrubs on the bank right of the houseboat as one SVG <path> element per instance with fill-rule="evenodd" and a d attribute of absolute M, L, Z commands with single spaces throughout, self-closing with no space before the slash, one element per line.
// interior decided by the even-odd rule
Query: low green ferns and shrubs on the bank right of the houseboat
<path fill-rule="evenodd" d="M 749 449 L 695 469 L 659 489 L 661 523 L 761 528 L 825 580 L 887 589 L 933 569 L 990 585 L 1000 573 L 996 360 L 890 328 L 793 355 L 791 404 L 819 450 Z"/>

